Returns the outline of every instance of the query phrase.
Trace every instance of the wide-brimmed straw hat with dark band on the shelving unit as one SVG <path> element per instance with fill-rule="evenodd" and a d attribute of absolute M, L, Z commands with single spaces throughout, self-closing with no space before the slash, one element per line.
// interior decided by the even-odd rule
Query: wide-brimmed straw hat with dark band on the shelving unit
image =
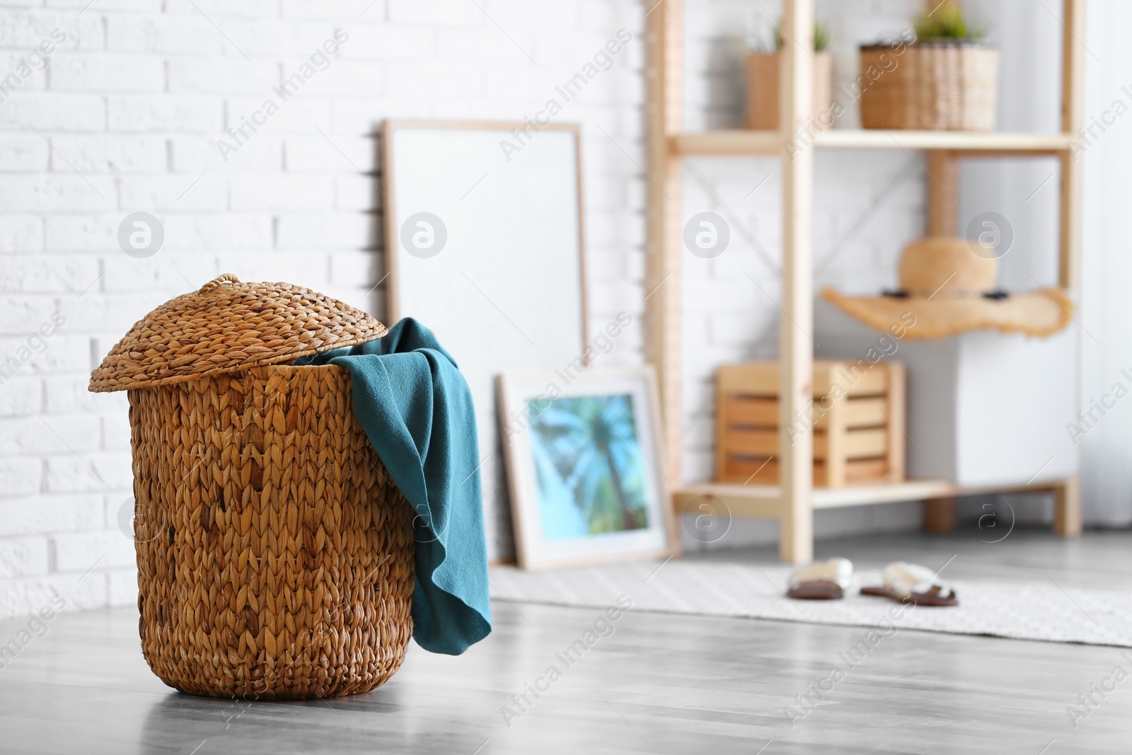
<path fill-rule="evenodd" d="M 997 274 L 998 260 L 976 254 L 966 239 L 931 237 L 904 248 L 899 291 L 846 297 L 826 289 L 822 297 L 878 331 L 899 325 L 909 340 L 985 328 L 1047 336 L 1069 325 L 1073 303 L 1063 291 L 1007 294 L 995 291 Z"/>

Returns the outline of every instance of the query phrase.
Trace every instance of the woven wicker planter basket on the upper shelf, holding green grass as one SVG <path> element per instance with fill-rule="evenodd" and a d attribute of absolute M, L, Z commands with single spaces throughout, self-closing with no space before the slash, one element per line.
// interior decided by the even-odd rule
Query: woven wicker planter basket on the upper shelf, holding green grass
<path fill-rule="evenodd" d="M 864 128 L 993 131 L 998 51 L 927 42 L 860 49 Z M 871 72 L 872 71 L 872 72 Z"/>

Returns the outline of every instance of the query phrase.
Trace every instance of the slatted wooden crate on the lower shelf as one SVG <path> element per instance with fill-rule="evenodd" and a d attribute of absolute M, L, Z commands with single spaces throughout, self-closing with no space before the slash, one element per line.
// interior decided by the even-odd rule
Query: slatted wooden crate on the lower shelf
<path fill-rule="evenodd" d="M 721 367 L 715 376 L 715 478 L 778 484 L 779 364 Z M 904 367 L 816 360 L 809 418 L 794 424 L 814 432 L 814 484 L 904 479 Z"/>

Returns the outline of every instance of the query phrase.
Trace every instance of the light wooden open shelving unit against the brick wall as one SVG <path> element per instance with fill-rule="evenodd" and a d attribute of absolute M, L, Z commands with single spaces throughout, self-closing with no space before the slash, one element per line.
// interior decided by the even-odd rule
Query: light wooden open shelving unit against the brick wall
<path fill-rule="evenodd" d="M 938 0 L 929 0 L 934 6 Z M 741 486 L 701 483 L 680 486 L 680 196 L 683 158 L 694 155 L 767 155 L 782 161 L 782 301 L 780 427 L 811 402 L 814 354 L 806 333 L 813 331 L 812 206 L 816 148 L 923 151 L 933 180 L 927 182 L 929 234 L 955 234 L 959 191 L 958 163 L 963 158 L 1054 155 L 1061 162 L 1061 239 L 1058 278 L 1062 288 L 1077 293 L 1080 281 L 1081 162 L 1071 152 L 1071 135 L 1083 125 L 1084 0 L 1063 0 L 1062 134 L 1000 134 L 969 131 L 825 130 L 814 135 L 805 148 L 788 148 L 796 129 L 811 125 L 813 52 L 800 44 L 787 46 L 780 84 L 782 125 L 778 131 L 718 130 L 688 134 L 683 130 L 681 0 L 654 0 L 648 24 L 648 139 L 649 221 L 645 300 L 646 352 L 657 368 L 663 422 L 668 441 L 667 467 L 676 481 L 677 512 L 702 513 L 705 499 L 722 501 L 735 516 L 773 518 L 780 524 L 779 551 L 787 561 L 813 557 L 813 512 L 840 506 L 860 506 L 900 500 L 924 500 L 925 523 L 945 531 L 954 522 L 958 496 L 985 492 L 1053 491 L 1054 530 L 1064 535 L 1080 533 L 1080 494 L 1077 478 L 1036 486 L 961 488 L 937 480 L 917 480 L 883 486 L 839 489 L 813 487 L 813 437 L 807 434 L 789 443 L 780 438 L 781 484 Z M 783 0 L 784 37 L 812 38 L 814 0 Z"/>

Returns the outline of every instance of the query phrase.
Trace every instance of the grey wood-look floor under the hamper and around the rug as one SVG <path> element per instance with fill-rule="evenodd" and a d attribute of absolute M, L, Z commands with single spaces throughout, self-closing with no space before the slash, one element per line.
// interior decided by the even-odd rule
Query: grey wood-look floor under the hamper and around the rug
<path fill-rule="evenodd" d="M 1053 580 L 1132 590 L 1132 533 L 1075 542 L 1015 531 L 946 538 L 886 535 L 820 543 L 820 556 L 861 566 L 895 558 L 945 575 Z M 774 563 L 770 550 L 746 551 Z M 743 552 L 696 558 L 740 559 Z M 1057 753 L 1132 752 L 1132 678 L 1074 727 L 1066 707 L 1114 667 L 1115 647 L 900 630 L 818 704 L 794 698 L 818 684 L 861 628 L 627 612 L 574 666 L 556 652 L 599 614 L 496 602 L 492 635 L 458 658 L 415 645 L 385 687 L 297 703 L 208 700 L 175 693 L 138 650 L 137 614 L 60 615 L 0 669 L 3 753 Z M 0 623 L 0 638 L 26 620 Z M 1132 658 L 1132 652 L 1129 654 Z M 563 668 L 515 720 L 512 695 Z M 841 666 L 844 666 L 842 662 Z M 829 685 L 826 684 L 826 687 Z M 804 715 L 791 721 L 786 709 Z M 516 710 L 516 713 L 518 711 Z"/>

